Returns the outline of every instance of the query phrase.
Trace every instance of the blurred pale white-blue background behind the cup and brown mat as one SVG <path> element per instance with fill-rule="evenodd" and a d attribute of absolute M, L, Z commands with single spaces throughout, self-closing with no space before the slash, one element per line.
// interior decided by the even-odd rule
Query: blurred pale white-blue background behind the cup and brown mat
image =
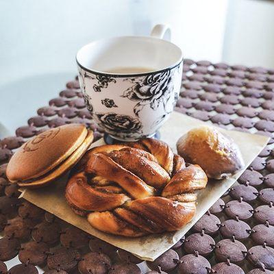
<path fill-rule="evenodd" d="M 77 73 L 75 53 L 169 23 L 185 58 L 274 67 L 274 1 L 0 0 L 0 138 Z"/>

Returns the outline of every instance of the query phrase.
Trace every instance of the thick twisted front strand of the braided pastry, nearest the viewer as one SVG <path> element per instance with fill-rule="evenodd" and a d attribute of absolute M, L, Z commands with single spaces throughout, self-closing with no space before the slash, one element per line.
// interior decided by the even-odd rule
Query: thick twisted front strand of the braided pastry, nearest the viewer
<path fill-rule="evenodd" d="M 114 210 L 115 214 L 92 212 L 88 214 L 88 222 L 103 232 L 138 237 L 180 229 L 192 219 L 196 210 L 195 203 L 178 203 L 163 197 L 137 199 L 127 203 L 127 208 L 118 208 Z"/>

